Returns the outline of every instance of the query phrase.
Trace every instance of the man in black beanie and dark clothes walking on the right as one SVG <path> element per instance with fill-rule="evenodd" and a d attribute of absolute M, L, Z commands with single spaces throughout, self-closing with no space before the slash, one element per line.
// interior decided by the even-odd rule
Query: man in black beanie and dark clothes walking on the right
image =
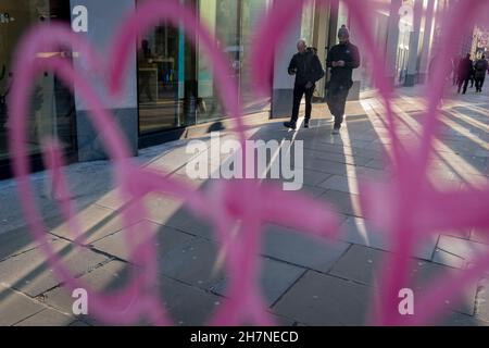
<path fill-rule="evenodd" d="M 331 69 L 327 104 L 335 116 L 333 134 L 339 134 L 343 122 L 348 92 L 353 86 L 353 69 L 360 66 L 359 49 L 350 42 L 350 33 L 344 25 L 338 30 L 338 39 L 339 45 L 330 49 L 326 61 L 327 67 Z"/>

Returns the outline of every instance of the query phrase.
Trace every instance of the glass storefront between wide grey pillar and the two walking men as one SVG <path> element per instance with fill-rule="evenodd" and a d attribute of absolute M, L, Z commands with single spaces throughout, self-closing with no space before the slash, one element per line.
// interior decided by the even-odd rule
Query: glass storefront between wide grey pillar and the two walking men
<path fill-rule="evenodd" d="M 251 88 L 251 46 L 268 0 L 185 0 L 216 37 L 228 57 L 230 78 L 238 85 L 246 113 L 269 110 Z M 184 28 L 166 23 L 138 40 L 139 133 L 147 134 L 225 116 L 213 79 L 213 66 Z"/>

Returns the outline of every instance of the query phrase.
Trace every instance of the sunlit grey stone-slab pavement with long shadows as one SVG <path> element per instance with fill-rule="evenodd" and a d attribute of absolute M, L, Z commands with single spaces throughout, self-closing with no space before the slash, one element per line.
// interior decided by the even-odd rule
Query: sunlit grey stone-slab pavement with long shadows
<path fill-rule="evenodd" d="M 419 89 L 403 88 L 399 92 L 394 102 L 402 119 L 399 130 L 402 139 L 410 141 L 421 130 Z M 325 110 L 324 104 L 314 105 L 310 129 L 289 132 L 281 126 L 284 120 L 249 128 L 253 139 L 303 140 L 302 191 L 333 203 L 342 221 L 341 237 L 333 244 L 284 226 L 267 226 L 260 256 L 261 285 L 269 311 L 283 325 L 367 324 L 379 264 L 391 250 L 363 216 L 358 189 L 358 181 L 364 176 L 390 175 L 384 161 L 390 140 L 381 102 L 372 98 L 349 103 L 348 125 L 340 136 L 330 135 L 333 123 Z M 471 91 L 443 101 L 443 127 L 429 173 L 439 189 L 487 184 L 488 117 L 487 89 L 484 95 Z M 210 145 L 209 137 L 202 140 Z M 193 157 L 186 153 L 187 141 L 140 150 L 135 160 L 188 179 L 185 164 Z M 57 208 L 57 195 L 42 172 L 33 174 L 32 183 L 49 228 L 49 243 L 87 286 L 101 291 L 121 288 L 128 271 L 137 265 L 128 262 L 118 214 L 124 202 L 114 190 L 111 164 L 76 163 L 65 172 L 87 241 L 74 248 L 74 238 Z M 197 188 L 209 182 L 191 184 Z M 0 325 L 103 324 L 89 315 L 73 314 L 74 299 L 47 266 L 46 257 L 25 226 L 13 181 L 0 182 Z M 226 291 L 226 274 L 216 266 L 216 237 L 181 202 L 150 196 L 146 204 L 158 240 L 162 303 L 166 303 L 175 324 L 203 324 Z M 428 281 L 446 272 L 464 272 L 474 257 L 488 248 L 480 231 L 440 231 L 436 237 L 426 238 L 413 254 L 413 287 L 423 289 Z M 489 273 L 487 278 L 467 284 L 463 300 L 448 303 L 436 324 L 488 325 L 488 279 Z"/>

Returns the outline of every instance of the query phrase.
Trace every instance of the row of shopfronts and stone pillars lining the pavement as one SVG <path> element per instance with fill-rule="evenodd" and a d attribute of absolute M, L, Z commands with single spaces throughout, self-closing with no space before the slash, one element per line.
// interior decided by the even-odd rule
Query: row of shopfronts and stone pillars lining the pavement
<path fill-rule="evenodd" d="M 18 38 L 30 26 L 50 21 L 65 22 L 85 36 L 110 62 L 106 48 L 128 11 L 143 0 L 1 0 L 0 2 L 0 177 L 9 177 L 8 149 L 9 108 L 5 96 L 15 79 L 12 53 Z M 215 35 L 228 55 L 229 67 L 239 86 L 246 114 L 253 117 L 289 116 L 293 77 L 287 72 L 298 38 L 317 48 L 325 64 L 328 49 L 337 44 L 337 30 L 347 25 L 352 40 L 356 25 L 342 1 L 334 7 L 319 7 L 310 1 L 297 23 L 290 25 L 290 40 L 276 52 L 271 98 L 258 100 L 251 88 L 250 48 L 258 21 L 279 0 L 181 0 L 191 7 Z M 423 82 L 434 46 L 437 11 L 443 0 L 379 0 L 371 20 L 373 35 L 385 53 L 386 71 L 393 85 L 412 86 Z M 423 9 L 410 21 L 412 29 L 400 29 L 405 8 Z M 430 15 L 434 13 L 435 15 Z M 212 66 L 202 48 L 186 40 L 185 30 L 161 23 L 134 42 L 137 48 L 126 77 L 124 98 L 108 104 L 127 138 L 134 154 L 138 149 L 171 139 L 189 137 L 220 128 L 226 116 L 217 99 Z M 42 52 L 41 52 L 42 53 Z M 46 52 L 45 52 L 46 53 Z M 49 53 L 49 52 L 48 52 Z M 51 52 L 52 53 L 52 52 Z M 71 54 L 73 64 L 80 62 Z M 362 60 L 354 72 L 350 100 L 372 89 L 369 62 Z M 93 84 L 101 82 L 93 80 Z M 41 167 L 40 139 L 55 136 L 63 145 L 68 162 L 106 158 L 100 135 L 89 121 L 90 110 L 79 100 L 76 87 L 64 86 L 53 74 L 46 73 L 36 83 L 32 98 L 29 149 L 33 169 Z M 103 89 L 103 88 L 101 88 Z M 325 96 L 325 79 L 318 83 L 315 97 Z"/>

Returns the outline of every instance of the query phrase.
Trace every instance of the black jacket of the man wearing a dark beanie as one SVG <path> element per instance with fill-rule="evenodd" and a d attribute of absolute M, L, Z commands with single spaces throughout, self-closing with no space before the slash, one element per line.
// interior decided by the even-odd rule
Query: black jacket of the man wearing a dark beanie
<path fill-rule="evenodd" d="M 337 61 L 344 61 L 344 66 L 333 67 L 333 62 Z M 326 65 L 331 69 L 331 84 L 351 88 L 353 69 L 360 66 L 359 49 L 350 42 L 336 45 L 328 52 Z"/>

